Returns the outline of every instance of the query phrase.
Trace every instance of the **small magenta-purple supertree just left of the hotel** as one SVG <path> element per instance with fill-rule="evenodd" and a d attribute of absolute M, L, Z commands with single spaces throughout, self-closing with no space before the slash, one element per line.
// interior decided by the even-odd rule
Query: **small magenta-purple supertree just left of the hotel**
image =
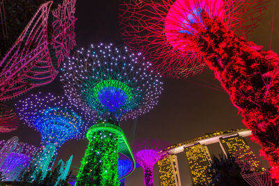
<path fill-rule="evenodd" d="M 135 141 L 133 153 L 135 161 L 144 169 L 144 185 L 153 186 L 153 166 L 159 160 L 165 157 L 165 154 L 160 154 L 160 150 L 167 148 L 169 143 L 158 139 L 141 139 Z"/>

